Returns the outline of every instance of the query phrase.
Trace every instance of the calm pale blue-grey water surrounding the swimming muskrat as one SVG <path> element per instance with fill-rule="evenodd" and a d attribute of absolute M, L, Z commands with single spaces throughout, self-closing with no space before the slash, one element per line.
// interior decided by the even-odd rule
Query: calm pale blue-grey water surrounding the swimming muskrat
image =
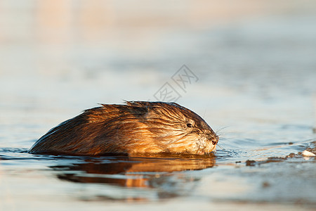
<path fill-rule="evenodd" d="M 0 4 L 0 210 L 315 209 L 315 158 L 298 155 L 315 147 L 315 4 L 48 2 Z M 166 82 L 218 130 L 215 156 L 27 153 L 81 110 L 156 101 Z"/>

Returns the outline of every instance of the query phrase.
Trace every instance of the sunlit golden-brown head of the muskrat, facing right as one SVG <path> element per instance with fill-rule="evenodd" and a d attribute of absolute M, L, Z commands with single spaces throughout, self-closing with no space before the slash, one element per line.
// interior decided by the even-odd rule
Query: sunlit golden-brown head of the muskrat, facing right
<path fill-rule="evenodd" d="M 216 150 L 218 136 L 192 110 L 163 102 L 132 101 L 127 106 L 143 110 L 141 125 L 147 125 L 154 143 L 166 153 L 203 155 Z"/>

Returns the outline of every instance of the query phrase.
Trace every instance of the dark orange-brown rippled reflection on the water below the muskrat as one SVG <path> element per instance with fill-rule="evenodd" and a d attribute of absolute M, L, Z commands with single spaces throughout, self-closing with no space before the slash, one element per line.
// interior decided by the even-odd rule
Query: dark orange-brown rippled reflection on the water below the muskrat
<path fill-rule="evenodd" d="M 94 196 L 103 200 L 153 200 L 183 196 L 190 193 L 195 181 L 202 177 L 192 171 L 215 165 L 213 157 L 107 157 L 60 161 L 61 165 L 51 166 L 58 179 L 86 186 L 102 184 L 104 190 L 94 193 Z M 91 195 L 88 197 L 85 200 L 96 199 L 91 199 Z"/>

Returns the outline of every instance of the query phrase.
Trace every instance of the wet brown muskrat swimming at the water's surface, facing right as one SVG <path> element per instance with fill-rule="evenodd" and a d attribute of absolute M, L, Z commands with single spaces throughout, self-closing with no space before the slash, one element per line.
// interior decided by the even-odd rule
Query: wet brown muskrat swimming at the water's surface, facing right
<path fill-rule="evenodd" d="M 218 136 L 202 117 L 177 103 L 126 101 L 60 123 L 34 143 L 29 153 L 50 155 L 204 155 Z"/>

